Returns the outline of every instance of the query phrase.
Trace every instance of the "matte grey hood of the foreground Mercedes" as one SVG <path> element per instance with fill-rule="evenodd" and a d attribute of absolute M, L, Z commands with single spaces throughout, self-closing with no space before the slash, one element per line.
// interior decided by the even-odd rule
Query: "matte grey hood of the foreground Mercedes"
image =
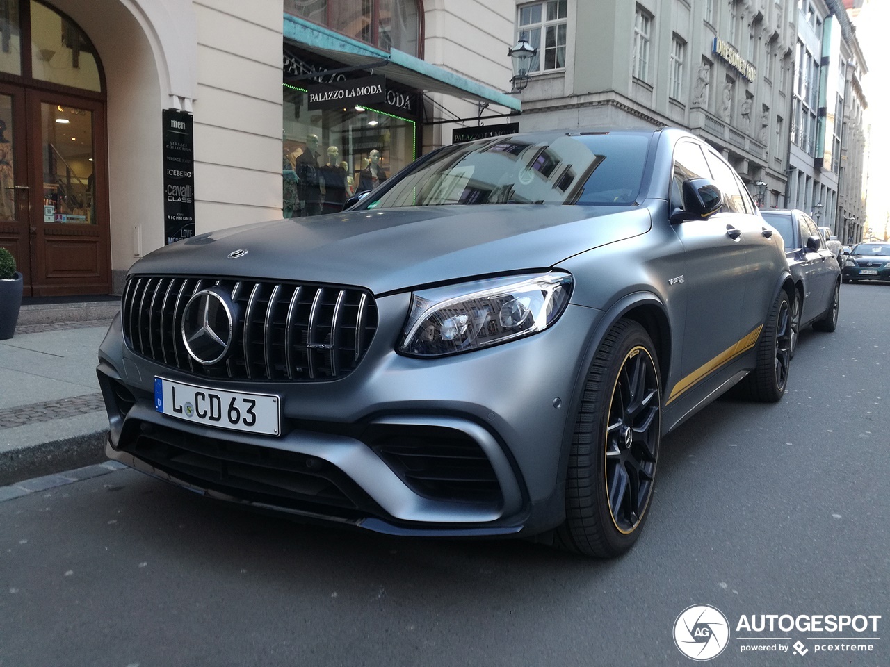
<path fill-rule="evenodd" d="M 360 285 L 376 294 L 544 269 L 643 234 L 642 206 L 474 205 L 351 211 L 223 229 L 167 245 L 131 273 Z M 247 250 L 238 259 L 229 253 Z"/>

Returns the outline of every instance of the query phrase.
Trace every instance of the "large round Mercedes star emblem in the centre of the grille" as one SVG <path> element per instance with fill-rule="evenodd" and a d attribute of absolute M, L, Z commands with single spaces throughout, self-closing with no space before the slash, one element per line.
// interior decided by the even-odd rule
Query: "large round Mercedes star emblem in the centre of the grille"
<path fill-rule="evenodd" d="M 198 364 L 210 366 L 229 353 L 234 332 L 231 303 L 214 290 L 195 293 L 182 311 L 182 342 Z"/>

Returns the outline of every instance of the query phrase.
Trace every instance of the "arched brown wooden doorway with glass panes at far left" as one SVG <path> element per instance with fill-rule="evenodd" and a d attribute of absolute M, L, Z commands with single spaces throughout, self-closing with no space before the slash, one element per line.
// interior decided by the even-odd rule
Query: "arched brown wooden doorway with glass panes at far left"
<path fill-rule="evenodd" d="M 0 245 L 26 296 L 110 291 L 106 135 L 84 31 L 38 0 L 0 0 Z"/>

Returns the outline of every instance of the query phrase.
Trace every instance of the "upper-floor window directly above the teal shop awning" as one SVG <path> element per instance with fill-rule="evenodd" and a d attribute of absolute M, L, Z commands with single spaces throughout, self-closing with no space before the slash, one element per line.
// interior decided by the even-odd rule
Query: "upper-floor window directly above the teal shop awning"
<path fill-rule="evenodd" d="M 423 55 L 417 0 L 285 0 L 284 10 L 384 51 Z"/>

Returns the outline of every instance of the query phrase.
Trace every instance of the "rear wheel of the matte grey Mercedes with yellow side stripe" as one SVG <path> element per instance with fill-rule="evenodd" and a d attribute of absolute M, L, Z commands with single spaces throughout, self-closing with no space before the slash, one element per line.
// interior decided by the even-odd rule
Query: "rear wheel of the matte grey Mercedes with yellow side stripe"
<path fill-rule="evenodd" d="M 748 398 L 775 403 L 785 394 L 791 366 L 791 308 L 788 293 L 782 290 L 770 309 L 760 341 L 756 366 L 748 375 Z"/>

